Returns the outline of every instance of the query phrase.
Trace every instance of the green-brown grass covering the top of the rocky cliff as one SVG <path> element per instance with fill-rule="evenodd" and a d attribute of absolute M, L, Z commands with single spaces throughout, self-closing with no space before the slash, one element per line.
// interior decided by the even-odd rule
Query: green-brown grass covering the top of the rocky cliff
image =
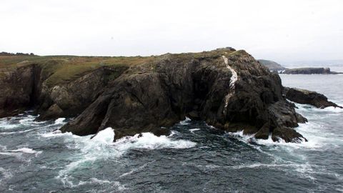
<path fill-rule="evenodd" d="M 173 54 L 173 57 L 176 57 L 181 61 L 185 58 L 199 59 L 220 57 L 222 54 L 235 55 L 242 54 L 241 52 L 242 51 L 232 51 L 229 49 L 217 49 L 199 53 Z M 41 66 L 44 74 L 49 74 L 49 78 L 46 79 L 46 84 L 56 85 L 77 79 L 79 76 L 94 69 L 98 69 L 101 66 L 111 66 L 121 73 L 130 66 L 139 64 L 153 65 L 154 61 L 159 57 L 160 56 L 0 56 L 0 77 L 6 71 L 16 69 L 19 66 L 38 64 Z M 151 66 L 151 69 L 153 68 L 154 66 Z M 117 75 L 118 74 L 114 74 L 114 76 Z"/>

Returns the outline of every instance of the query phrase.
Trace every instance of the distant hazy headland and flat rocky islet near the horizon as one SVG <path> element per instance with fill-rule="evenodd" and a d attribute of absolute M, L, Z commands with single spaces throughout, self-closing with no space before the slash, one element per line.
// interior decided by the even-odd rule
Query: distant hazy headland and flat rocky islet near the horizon
<path fill-rule="evenodd" d="M 275 61 L 259 59 L 259 63 L 266 66 L 270 71 L 278 72 L 279 74 L 343 74 L 342 72 L 331 71 L 330 68 L 324 67 L 304 67 L 287 69 Z"/>

